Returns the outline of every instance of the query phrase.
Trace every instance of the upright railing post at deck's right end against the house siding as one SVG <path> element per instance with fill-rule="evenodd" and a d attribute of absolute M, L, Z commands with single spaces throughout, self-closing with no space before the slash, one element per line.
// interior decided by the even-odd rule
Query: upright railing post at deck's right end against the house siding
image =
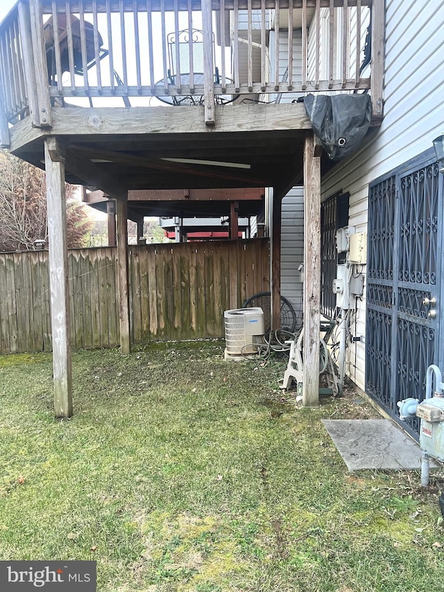
<path fill-rule="evenodd" d="M 372 69 L 370 94 L 373 117 L 382 118 L 384 102 L 384 53 L 385 53 L 385 8 L 384 0 L 372 3 Z"/>

